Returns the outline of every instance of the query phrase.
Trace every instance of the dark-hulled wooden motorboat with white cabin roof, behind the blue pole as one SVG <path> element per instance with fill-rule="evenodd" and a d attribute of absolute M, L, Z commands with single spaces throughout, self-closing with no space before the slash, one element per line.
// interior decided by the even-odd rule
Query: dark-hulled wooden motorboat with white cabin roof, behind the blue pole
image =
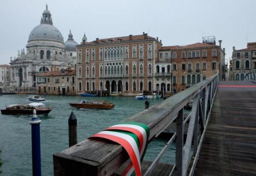
<path fill-rule="evenodd" d="M 5 115 L 33 115 L 34 109 L 37 115 L 47 115 L 52 110 L 42 103 L 12 104 L 5 110 L 1 110 L 1 113 Z"/>

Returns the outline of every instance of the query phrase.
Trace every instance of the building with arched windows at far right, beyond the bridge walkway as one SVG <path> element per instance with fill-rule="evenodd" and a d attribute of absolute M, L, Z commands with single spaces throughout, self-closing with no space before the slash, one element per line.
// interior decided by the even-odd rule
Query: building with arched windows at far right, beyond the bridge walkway
<path fill-rule="evenodd" d="M 244 77 L 250 72 L 256 72 L 256 42 L 247 43 L 245 49 L 236 50 L 233 46 L 230 80 L 244 81 Z"/>

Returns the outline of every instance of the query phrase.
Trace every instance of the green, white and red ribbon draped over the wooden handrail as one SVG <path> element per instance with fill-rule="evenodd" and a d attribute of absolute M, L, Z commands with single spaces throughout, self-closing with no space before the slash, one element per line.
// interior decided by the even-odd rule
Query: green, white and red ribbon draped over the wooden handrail
<path fill-rule="evenodd" d="M 148 144 L 148 126 L 138 122 L 126 122 L 113 125 L 104 131 L 94 134 L 90 138 L 106 138 L 125 148 L 131 163 L 125 168 L 122 176 L 135 174 L 141 176 L 141 162 Z"/>

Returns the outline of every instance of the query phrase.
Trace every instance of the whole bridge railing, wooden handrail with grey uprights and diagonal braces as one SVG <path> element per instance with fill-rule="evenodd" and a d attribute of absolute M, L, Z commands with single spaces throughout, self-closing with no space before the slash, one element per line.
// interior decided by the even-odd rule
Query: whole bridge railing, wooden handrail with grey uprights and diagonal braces
<path fill-rule="evenodd" d="M 219 76 L 217 73 L 195 84 L 193 87 L 167 98 L 160 104 L 156 104 L 124 120 L 126 122 L 136 121 L 146 124 L 150 130 L 149 142 L 153 141 L 166 127 L 176 120 L 176 131 L 174 135 L 147 168 L 144 176 L 152 173 L 174 140 L 176 141 L 176 162 L 169 175 L 172 175 L 174 171 L 177 176 L 193 175 L 209 122 L 213 100 L 218 87 L 218 80 Z M 193 100 L 191 113 L 184 117 L 184 106 L 191 100 Z M 184 124 L 188 121 L 189 127 L 186 142 L 183 144 Z M 198 128 L 199 125 L 201 127 L 200 130 Z M 191 149 L 192 145 L 193 150 Z M 110 176 L 127 160 L 128 155 L 121 145 L 105 140 L 87 139 L 61 153 L 53 154 L 55 176 L 68 175 L 68 173 Z M 189 167 L 189 164 L 191 167 Z M 69 165 L 72 165 L 72 167 L 66 167 Z"/>

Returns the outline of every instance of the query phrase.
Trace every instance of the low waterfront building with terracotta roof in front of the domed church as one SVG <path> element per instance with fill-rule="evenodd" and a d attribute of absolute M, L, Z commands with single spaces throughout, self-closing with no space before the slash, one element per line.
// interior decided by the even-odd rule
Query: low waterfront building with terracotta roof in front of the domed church
<path fill-rule="evenodd" d="M 61 69 L 36 75 L 37 94 L 76 95 L 76 70 Z"/>

